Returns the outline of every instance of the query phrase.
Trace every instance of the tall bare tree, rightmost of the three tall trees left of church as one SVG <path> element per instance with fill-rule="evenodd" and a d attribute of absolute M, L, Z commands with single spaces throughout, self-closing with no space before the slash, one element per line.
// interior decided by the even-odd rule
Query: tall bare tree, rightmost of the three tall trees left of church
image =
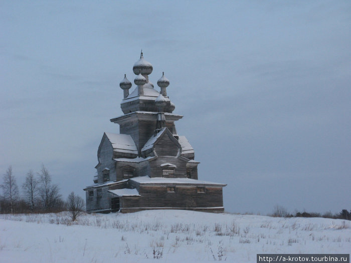
<path fill-rule="evenodd" d="M 57 184 L 51 184 L 51 175 L 44 164 L 39 173 L 39 198 L 45 211 L 53 211 L 62 204 L 60 188 Z"/>

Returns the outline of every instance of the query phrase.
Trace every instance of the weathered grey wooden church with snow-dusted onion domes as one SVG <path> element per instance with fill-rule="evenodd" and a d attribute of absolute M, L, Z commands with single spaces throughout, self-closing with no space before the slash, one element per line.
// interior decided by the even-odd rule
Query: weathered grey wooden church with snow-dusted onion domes
<path fill-rule="evenodd" d="M 124 75 L 119 84 L 124 115 L 111 119 L 119 134 L 105 132 L 98 148 L 97 175 L 86 187 L 87 212 L 134 212 L 146 209 L 188 209 L 223 212 L 226 184 L 198 179 L 194 149 L 175 129 L 183 116 L 173 114 L 164 74 L 149 81 L 152 65 L 140 59 L 134 64 L 132 84 Z"/>

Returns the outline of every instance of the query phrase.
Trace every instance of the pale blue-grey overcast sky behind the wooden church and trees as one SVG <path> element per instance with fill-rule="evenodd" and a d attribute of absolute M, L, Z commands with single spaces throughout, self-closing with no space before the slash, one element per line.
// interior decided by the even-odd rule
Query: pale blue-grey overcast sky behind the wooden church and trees
<path fill-rule="evenodd" d="M 1 1 L 0 172 L 85 196 L 142 49 L 227 211 L 350 209 L 350 32 L 349 1 Z"/>

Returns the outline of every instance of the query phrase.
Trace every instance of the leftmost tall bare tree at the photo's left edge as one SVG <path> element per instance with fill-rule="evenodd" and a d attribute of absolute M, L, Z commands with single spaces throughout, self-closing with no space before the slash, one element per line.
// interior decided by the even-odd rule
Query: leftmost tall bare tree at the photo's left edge
<path fill-rule="evenodd" d="M 3 189 L 4 199 L 9 202 L 11 213 L 14 212 L 15 204 L 18 199 L 18 187 L 16 178 L 12 174 L 12 166 L 10 165 L 3 177 L 3 184 L 0 185 Z"/>

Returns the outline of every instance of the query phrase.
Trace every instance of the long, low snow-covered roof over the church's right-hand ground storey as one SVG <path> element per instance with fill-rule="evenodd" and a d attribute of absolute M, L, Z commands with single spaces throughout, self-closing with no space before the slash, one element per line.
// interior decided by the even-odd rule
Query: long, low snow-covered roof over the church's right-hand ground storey
<path fill-rule="evenodd" d="M 214 183 L 208 181 L 195 180 L 190 178 L 164 178 L 164 177 L 148 177 L 148 176 L 139 176 L 133 177 L 129 180 L 140 184 L 201 184 L 201 185 L 216 185 L 216 186 L 226 186 L 223 183 Z"/>

